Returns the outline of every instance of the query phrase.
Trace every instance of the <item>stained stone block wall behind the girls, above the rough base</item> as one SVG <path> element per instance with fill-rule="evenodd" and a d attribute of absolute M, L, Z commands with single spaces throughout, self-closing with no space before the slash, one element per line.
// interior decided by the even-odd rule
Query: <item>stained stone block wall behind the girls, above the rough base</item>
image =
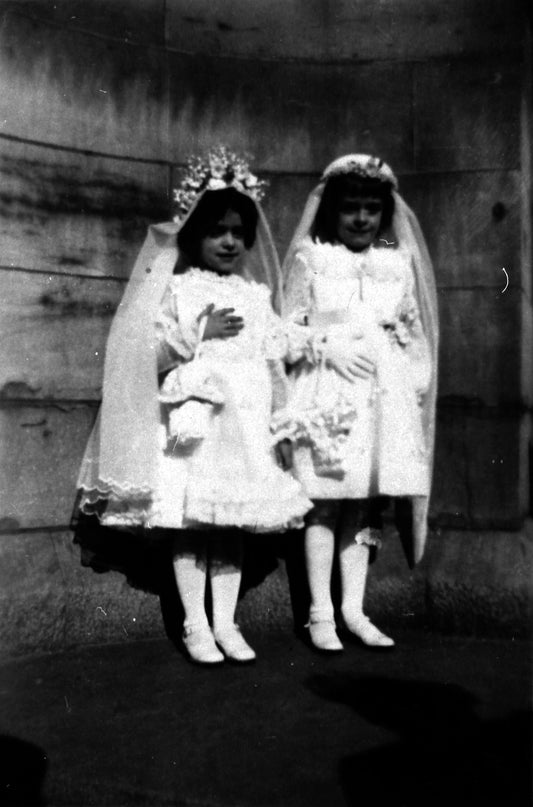
<path fill-rule="evenodd" d="M 146 224 L 168 217 L 179 166 L 218 142 L 255 155 L 270 180 L 281 255 L 329 161 L 370 151 L 392 164 L 439 286 L 434 522 L 520 528 L 531 402 L 521 2 L 19 0 L 0 12 L 4 552 L 14 536 L 68 540 L 132 259 Z"/>

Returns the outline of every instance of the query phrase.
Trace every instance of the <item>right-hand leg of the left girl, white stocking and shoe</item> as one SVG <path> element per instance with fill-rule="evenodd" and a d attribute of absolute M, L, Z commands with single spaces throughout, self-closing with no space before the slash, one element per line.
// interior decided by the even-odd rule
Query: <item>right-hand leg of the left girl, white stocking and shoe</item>
<path fill-rule="evenodd" d="M 209 578 L 213 600 L 213 633 L 226 658 L 247 663 L 255 659 L 255 652 L 245 642 L 235 624 L 242 559 L 243 541 L 240 535 L 228 531 L 210 538 Z"/>

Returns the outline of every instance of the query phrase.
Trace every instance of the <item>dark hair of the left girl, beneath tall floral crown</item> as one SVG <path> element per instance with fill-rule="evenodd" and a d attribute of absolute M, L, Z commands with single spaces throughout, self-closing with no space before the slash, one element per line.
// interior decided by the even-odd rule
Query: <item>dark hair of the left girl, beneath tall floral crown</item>
<path fill-rule="evenodd" d="M 206 191 L 198 205 L 178 233 L 178 247 L 187 257 L 197 262 L 200 244 L 228 210 L 234 210 L 242 219 L 244 246 L 253 247 L 257 230 L 257 208 L 254 202 L 235 188 Z"/>

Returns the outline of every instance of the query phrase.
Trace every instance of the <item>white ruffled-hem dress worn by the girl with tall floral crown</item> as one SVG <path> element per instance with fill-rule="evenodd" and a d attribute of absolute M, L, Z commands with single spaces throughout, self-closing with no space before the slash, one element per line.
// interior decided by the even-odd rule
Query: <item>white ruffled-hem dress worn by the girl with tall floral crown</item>
<path fill-rule="evenodd" d="M 211 304 L 234 308 L 243 317 L 238 335 L 202 340 L 202 312 Z M 180 368 L 194 365 L 204 389 L 214 391 L 196 404 L 207 412 L 207 427 L 201 439 L 188 445 L 173 440 L 168 430 L 173 406 L 162 403 L 155 490 L 144 502 L 110 500 L 102 523 L 216 525 L 251 532 L 301 525 L 311 502 L 277 465 L 272 448 L 272 372 L 290 351 L 268 287 L 234 274 L 190 268 L 172 276 L 155 327 L 160 369 L 177 367 L 163 382 L 166 397 L 160 395 L 160 400 L 172 399 Z M 291 355 L 294 359 L 296 354 Z"/>

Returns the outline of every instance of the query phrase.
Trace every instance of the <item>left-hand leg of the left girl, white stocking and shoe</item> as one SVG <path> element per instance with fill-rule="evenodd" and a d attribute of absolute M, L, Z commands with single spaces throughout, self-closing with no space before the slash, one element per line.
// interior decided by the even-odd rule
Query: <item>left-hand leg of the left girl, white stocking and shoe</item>
<path fill-rule="evenodd" d="M 174 539 L 174 576 L 185 612 L 183 644 L 193 661 L 219 664 L 224 660 L 215 644 L 205 612 L 207 577 L 206 539 L 201 534 Z"/>

